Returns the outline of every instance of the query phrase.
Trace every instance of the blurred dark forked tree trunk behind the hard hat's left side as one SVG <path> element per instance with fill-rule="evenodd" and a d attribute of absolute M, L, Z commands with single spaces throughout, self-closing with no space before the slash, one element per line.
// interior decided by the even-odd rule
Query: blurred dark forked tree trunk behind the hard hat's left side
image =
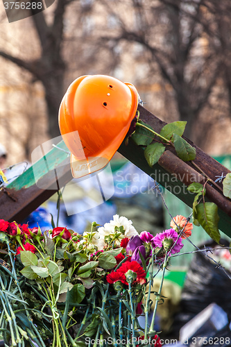
<path fill-rule="evenodd" d="M 65 62 L 62 59 L 63 17 L 67 0 L 55 1 L 56 8 L 53 22 L 46 22 L 44 13 L 32 15 L 31 20 L 35 26 L 40 40 L 41 56 L 37 60 L 22 60 L 5 51 L 0 56 L 15 63 L 19 67 L 31 72 L 33 79 L 42 82 L 45 92 L 46 107 L 49 116 L 49 135 L 60 135 L 58 127 L 58 109 L 64 95 Z M 32 10 L 33 12 L 33 10 Z"/>

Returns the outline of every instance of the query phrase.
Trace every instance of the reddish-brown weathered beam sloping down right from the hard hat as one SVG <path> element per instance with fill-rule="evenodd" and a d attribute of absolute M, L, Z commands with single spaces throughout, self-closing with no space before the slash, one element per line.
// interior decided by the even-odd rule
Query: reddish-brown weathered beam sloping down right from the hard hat
<path fill-rule="evenodd" d="M 138 110 L 140 112 L 140 119 L 152 126 L 157 133 L 160 133 L 160 130 L 166 123 L 140 105 Z M 223 165 L 214 158 L 199 149 L 189 139 L 186 140 L 196 149 L 196 159 L 194 163 L 213 181 L 216 180 L 216 176 L 221 176 L 222 172 L 224 175 L 230 172 L 230 170 L 223 167 Z M 153 167 L 148 166 L 144 158 L 144 149 L 142 146 L 136 146 L 132 140 L 128 142 L 128 146 L 123 142 L 118 151 L 130 160 L 130 162 L 150 175 L 157 183 L 160 183 L 160 185 L 180 198 L 181 201 L 189 205 L 189 207 L 192 207 L 194 194 L 187 191 L 187 186 L 193 182 L 204 183 L 205 180 L 194 164 L 191 162 L 183 162 L 177 157 L 173 147 L 169 146 L 169 150 L 164 152 L 159 162 L 153 165 Z M 221 190 L 207 185 L 206 199 L 207 201 L 212 201 L 216 203 L 216 205 L 219 205 L 219 228 L 225 232 L 226 235 L 231 237 L 231 201 L 223 196 L 221 192 L 223 188 L 222 183 L 217 183 L 217 185 L 219 185 Z"/>

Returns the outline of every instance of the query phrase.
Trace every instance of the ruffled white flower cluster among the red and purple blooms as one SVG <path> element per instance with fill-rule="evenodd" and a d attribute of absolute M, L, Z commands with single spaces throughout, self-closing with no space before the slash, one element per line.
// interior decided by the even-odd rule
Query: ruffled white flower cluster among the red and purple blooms
<path fill-rule="evenodd" d="M 118 214 L 115 214 L 113 216 L 112 221 L 110 221 L 110 223 L 105 223 L 104 226 L 101 226 L 98 229 L 99 235 L 100 235 L 100 239 L 99 239 L 99 243 L 97 244 L 99 251 L 101 249 L 103 249 L 103 247 L 106 245 L 105 243 L 105 236 L 111 236 L 113 238 L 114 236 L 114 228 L 115 227 L 123 227 L 124 230 L 124 234 L 119 235 L 118 239 L 115 241 L 116 246 L 120 245 L 121 239 L 123 239 L 124 237 L 132 237 L 135 235 L 138 235 L 137 230 L 135 230 L 134 226 L 132 226 L 132 221 L 129 221 L 128 218 L 126 217 L 119 217 Z"/>

